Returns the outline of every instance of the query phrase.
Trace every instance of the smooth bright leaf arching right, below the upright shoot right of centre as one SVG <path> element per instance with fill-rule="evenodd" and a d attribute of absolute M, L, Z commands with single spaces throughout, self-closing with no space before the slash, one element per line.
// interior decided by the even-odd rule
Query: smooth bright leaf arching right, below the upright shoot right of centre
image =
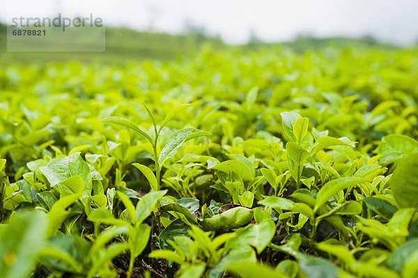
<path fill-rule="evenodd" d="M 316 196 L 314 212 L 323 206 L 336 193 L 340 192 L 341 190 L 345 190 L 350 186 L 358 185 L 362 182 L 364 182 L 363 178 L 355 177 L 336 178 L 335 180 L 329 181 L 319 190 Z"/>

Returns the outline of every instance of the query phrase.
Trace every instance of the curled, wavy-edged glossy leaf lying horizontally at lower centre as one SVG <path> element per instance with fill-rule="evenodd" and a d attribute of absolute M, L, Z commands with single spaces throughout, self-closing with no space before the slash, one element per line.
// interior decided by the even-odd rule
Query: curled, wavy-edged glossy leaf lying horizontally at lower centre
<path fill-rule="evenodd" d="M 203 219 L 201 226 L 203 231 L 231 230 L 244 226 L 252 219 L 252 211 L 242 206 L 231 208 L 219 215 Z"/>

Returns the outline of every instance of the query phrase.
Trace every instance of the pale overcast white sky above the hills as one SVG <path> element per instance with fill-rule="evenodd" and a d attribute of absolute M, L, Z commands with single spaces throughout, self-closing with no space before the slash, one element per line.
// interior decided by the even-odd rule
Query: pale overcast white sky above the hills
<path fill-rule="evenodd" d="M 4 0 L 3 0 L 4 1 Z M 251 30 L 266 41 L 297 34 L 376 38 L 401 45 L 418 41 L 417 0 L 7 0 L 10 14 L 31 17 L 100 15 L 107 26 L 184 33 L 186 22 L 220 34 L 227 43 L 246 43 Z"/>

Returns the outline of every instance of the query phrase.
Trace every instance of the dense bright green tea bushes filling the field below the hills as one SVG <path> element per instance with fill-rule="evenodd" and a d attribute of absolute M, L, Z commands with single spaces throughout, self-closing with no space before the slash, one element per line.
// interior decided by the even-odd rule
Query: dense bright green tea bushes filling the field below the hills
<path fill-rule="evenodd" d="M 417 277 L 417 50 L 0 69 L 0 277 Z"/>

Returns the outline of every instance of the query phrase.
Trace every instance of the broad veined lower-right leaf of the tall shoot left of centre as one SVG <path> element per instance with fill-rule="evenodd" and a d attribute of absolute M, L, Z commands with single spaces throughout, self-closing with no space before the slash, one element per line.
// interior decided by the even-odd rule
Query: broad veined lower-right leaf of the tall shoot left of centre
<path fill-rule="evenodd" d="M 160 168 L 167 160 L 176 155 L 178 149 L 183 146 L 186 141 L 201 136 L 210 136 L 210 132 L 197 130 L 196 128 L 183 128 L 171 134 L 167 144 L 161 150 L 160 156 L 158 157 Z"/>

